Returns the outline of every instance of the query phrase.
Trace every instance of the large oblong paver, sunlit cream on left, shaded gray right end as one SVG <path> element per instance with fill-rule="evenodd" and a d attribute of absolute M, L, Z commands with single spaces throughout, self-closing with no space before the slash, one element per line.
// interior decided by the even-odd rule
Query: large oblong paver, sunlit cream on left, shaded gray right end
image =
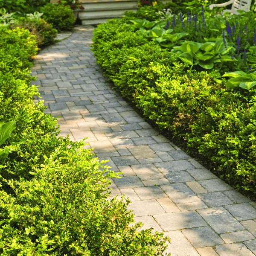
<path fill-rule="evenodd" d="M 158 214 L 153 217 L 163 231 L 207 226 L 204 219 L 195 211 Z"/>

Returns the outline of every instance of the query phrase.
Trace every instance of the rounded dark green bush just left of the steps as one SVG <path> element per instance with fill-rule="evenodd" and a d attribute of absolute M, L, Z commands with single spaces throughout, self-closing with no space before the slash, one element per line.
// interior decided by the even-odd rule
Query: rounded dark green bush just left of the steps
<path fill-rule="evenodd" d="M 58 32 L 72 28 L 74 22 L 76 22 L 74 11 L 69 5 L 47 3 L 44 7 L 40 8 L 40 12 L 44 12 L 42 18 L 47 23 L 52 23 L 53 28 L 57 29 Z"/>

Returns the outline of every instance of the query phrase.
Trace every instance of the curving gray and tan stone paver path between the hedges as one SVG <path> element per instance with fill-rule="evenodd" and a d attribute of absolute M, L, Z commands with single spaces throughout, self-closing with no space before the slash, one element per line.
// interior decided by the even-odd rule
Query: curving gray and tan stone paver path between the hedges
<path fill-rule="evenodd" d="M 110 179 L 108 200 L 125 194 L 135 223 L 144 223 L 139 230 L 154 227 L 153 233 L 169 236 L 172 244 L 167 243 L 164 255 L 256 255 L 256 203 L 144 122 L 95 64 L 88 46 L 95 28 L 74 29 L 69 38 L 40 52 L 32 68 L 38 81 L 31 84 L 40 85 L 42 98 L 34 96 L 35 103 L 44 100 L 45 113 L 63 116 L 59 136 L 88 137 L 84 148 L 94 148 L 114 172 L 124 172 Z"/>

